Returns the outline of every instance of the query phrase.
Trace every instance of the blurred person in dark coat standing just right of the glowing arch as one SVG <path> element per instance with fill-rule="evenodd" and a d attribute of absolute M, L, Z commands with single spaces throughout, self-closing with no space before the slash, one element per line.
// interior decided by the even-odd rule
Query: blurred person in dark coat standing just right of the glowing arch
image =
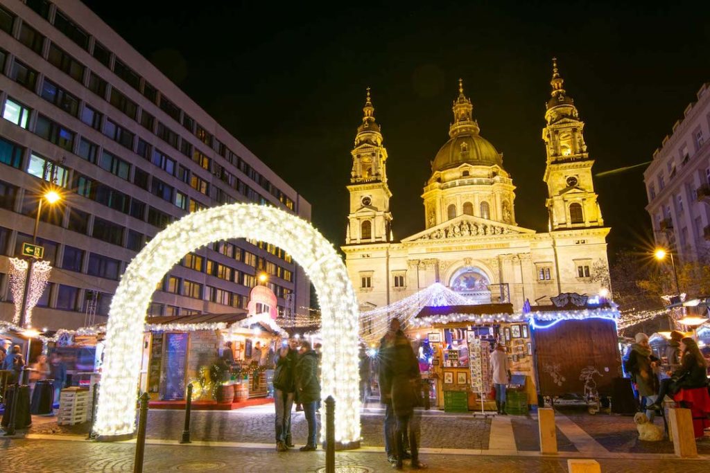
<path fill-rule="evenodd" d="M 417 450 L 417 434 L 410 431 L 410 421 L 414 408 L 419 406 L 419 389 L 421 375 L 419 362 L 412 345 L 402 330 L 397 330 L 388 356 L 384 360 L 384 372 L 391 380 L 390 399 L 392 410 L 397 419 L 395 439 L 397 445 L 396 469 L 403 468 L 405 433 L 408 433 L 412 469 L 422 469 L 425 465 L 419 461 Z"/>

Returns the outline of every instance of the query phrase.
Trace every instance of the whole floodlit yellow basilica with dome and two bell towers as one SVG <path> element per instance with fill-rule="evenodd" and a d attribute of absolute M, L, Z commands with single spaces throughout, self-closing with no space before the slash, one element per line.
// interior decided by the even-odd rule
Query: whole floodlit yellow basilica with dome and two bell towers
<path fill-rule="evenodd" d="M 351 152 L 342 246 L 362 310 L 393 304 L 435 282 L 481 304 L 510 302 L 516 311 L 525 300 L 550 304 L 550 297 L 563 292 L 594 295 L 603 289 L 610 228 L 594 191 L 594 160 L 555 61 L 550 83 L 542 129 L 546 231 L 516 223 L 513 177 L 503 155 L 481 136 L 459 81 L 449 140 L 432 161 L 422 193 L 425 228 L 398 241 L 391 230 L 388 155 L 368 91 Z"/>

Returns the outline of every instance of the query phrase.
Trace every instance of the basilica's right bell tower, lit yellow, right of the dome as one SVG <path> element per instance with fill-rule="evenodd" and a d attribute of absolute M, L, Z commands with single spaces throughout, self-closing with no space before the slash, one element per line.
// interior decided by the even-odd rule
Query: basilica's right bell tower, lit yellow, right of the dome
<path fill-rule="evenodd" d="M 601 209 L 594 191 L 594 160 L 584 143 L 584 122 L 574 100 L 562 88 L 564 79 L 552 59 L 552 98 L 547 102 L 542 139 L 547 148 L 547 211 L 550 230 L 601 227 Z"/>

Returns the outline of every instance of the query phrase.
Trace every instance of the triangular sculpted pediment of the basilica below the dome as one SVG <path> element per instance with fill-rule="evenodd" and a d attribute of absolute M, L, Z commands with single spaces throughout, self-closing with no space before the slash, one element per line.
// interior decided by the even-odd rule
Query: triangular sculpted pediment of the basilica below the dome
<path fill-rule="evenodd" d="M 493 235 L 513 235 L 521 233 L 535 233 L 535 230 L 518 227 L 508 223 L 486 220 L 471 215 L 461 215 L 439 225 L 427 228 L 416 233 L 402 242 L 425 240 L 448 240 L 457 238 L 479 238 Z"/>

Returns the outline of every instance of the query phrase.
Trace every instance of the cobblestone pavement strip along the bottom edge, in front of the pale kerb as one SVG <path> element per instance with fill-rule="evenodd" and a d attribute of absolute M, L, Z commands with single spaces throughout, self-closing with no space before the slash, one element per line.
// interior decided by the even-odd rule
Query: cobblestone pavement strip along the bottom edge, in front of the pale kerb
<path fill-rule="evenodd" d="M 3 465 L 15 471 L 41 473 L 129 473 L 133 472 L 135 445 L 62 440 L 0 440 Z M 432 473 L 506 472 L 562 473 L 567 460 L 550 457 L 422 455 Z M 339 467 L 347 473 L 381 473 L 392 469 L 381 453 L 337 452 Z M 603 472 L 705 473 L 707 460 L 600 460 Z M 148 445 L 143 471 L 168 472 L 279 472 L 316 473 L 325 455 L 317 452 L 247 450 L 229 447 Z"/>

